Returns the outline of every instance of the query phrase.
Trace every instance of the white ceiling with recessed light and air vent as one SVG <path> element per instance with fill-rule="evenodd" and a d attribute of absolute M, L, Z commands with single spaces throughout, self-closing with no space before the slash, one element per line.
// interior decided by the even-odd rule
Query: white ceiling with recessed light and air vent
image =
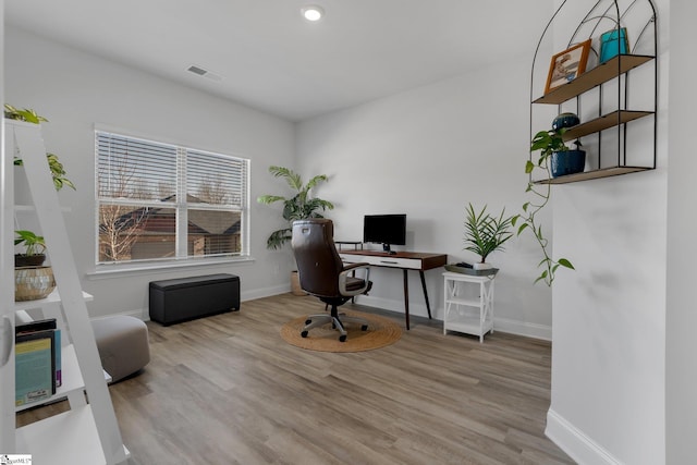
<path fill-rule="evenodd" d="M 319 23 L 301 16 L 308 3 Z M 11 0 L 5 21 L 292 121 L 531 59 L 552 0 Z M 186 70 L 222 76 L 216 82 Z M 515 76 L 521 78 L 522 76 Z"/>

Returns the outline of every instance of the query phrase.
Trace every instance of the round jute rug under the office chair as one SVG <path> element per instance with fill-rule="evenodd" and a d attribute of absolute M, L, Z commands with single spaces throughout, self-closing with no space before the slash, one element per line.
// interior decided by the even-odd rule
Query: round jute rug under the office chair
<path fill-rule="evenodd" d="M 281 327 L 281 338 L 289 344 L 309 351 L 321 352 L 360 352 L 380 348 L 400 340 L 402 328 L 394 321 L 377 315 L 363 311 L 345 311 L 347 316 L 356 316 L 368 320 L 368 330 L 360 331 L 360 327 L 346 323 L 348 333 L 346 342 L 339 341 L 339 331 L 331 329 L 327 323 L 313 328 L 307 338 L 301 336 L 307 316 L 295 318 Z"/>

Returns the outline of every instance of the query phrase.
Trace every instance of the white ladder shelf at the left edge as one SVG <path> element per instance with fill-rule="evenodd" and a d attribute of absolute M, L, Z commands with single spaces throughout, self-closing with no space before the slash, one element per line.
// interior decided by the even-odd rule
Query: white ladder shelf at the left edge
<path fill-rule="evenodd" d="M 4 152 L 0 166 L 2 212 L 0 225 L 3 292 L 0 293 L 0 452 L 32 454 L 34 463 L 44 464 L 125 464 L 129 451 L 123 444 L 117 417 L 101 368 L 95 335 L 89 322 L 86 299 L 73 260 L 68 230 L 53 187 L 40 126 L 20 121 L 4 121 Z M 14 168 L 19 152 L 24 162 L 34 209 L 45 237 L 57 283 L 57 292 L 41 301 L 14 303 Z M 12 292 L 5 292 L 11 289 Z M 60 310 L 57 310 L 57 305 Z M 52 309 L 70 330 L 72 346 L 63 347 L 63 376 L 73 379 L 57 394 L 66 396 L 70 411 L 15 429 L 14 407 L 14 314 L 24 308 Z M 59 323 L 60 325 L 60 323 Z M 72 371 L 78 372 L 70 374 Z M 85 395 L 89 403 L 85 401 Z"/>

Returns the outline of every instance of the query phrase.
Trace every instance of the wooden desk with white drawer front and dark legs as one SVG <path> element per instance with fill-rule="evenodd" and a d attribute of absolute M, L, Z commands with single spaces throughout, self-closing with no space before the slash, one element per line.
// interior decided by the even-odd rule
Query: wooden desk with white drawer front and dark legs
<path fill-rule="evenodd" d="M 445 254 L 425 254 L 420 252 L 396 252 L 392 255 L 387 252 L 377 250 L 340 250 L 339 256 L 347 264 L 370 264 L 372 267 L 398 268 L 404 271 L 404 318 L 406 329 L 409 329 L 409 285 L 406 272 L 408 270 L 418 270 L 421 278 L 421 287 L 424 289 L 424 298 L 426 299 L 426 309 L 428 318 L 431 318 L 431 306 L 428 302 L 428 291 L 426 290 L 426 280 L 424 271 L 439 268 L 448 261 Z"/>

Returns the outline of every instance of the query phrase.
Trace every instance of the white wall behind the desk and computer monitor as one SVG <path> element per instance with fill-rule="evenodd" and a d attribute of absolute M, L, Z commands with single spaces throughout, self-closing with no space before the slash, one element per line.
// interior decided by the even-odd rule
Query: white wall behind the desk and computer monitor
<path fill-rule="evenodd" d="M 528 178 L 529 57 L 322 115 L 298 125 L 302 171 L 325 173 L 317 194 L 337 201 L 327 216 L 338 240 L 360 241 L 363 216 L 406 213 L 407 245 L 474 261 L 463 252 L 465 207 L 518 212 Z M 399 249 L 399 247 L 395 247 Z M 550 291 L 533 285 L 539 250 L 514 238 L 492 254 L 500 330 L 549 338 Z M 442 270 L 427 271 L 431 309 L 442 318 Z M 403 311 L 402 273 L 374 268 L 366 305 Z M 409 310 L 426 316 L 418 274 L 409 281 Z"/>

